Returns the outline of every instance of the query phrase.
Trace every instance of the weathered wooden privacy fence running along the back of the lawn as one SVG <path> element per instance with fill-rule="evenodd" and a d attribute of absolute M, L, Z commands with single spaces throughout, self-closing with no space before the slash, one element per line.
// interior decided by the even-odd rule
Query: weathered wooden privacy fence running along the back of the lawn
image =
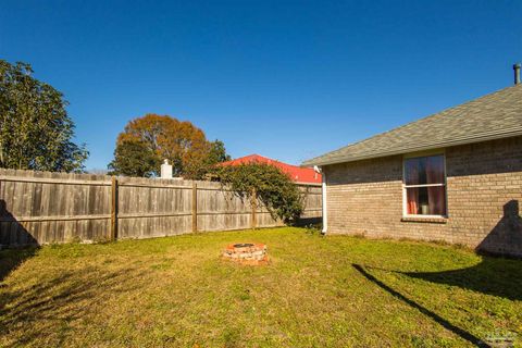
<path fill-rule="evenodd" d="M 321 187 L 299 188 L 301 217 L 320 217 Z M 0 169 L 0 246 L 281 225 L 261 201 L 220 183 Z"/>

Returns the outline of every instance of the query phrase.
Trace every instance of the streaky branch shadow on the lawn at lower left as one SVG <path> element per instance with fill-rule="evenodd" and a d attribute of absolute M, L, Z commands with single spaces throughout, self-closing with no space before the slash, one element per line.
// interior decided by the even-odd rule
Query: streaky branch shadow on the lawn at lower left
<path fill-rule="evenodd" d="M 30 346 L 50 336 L 63 344 L 70 322 L 96 314 L 114 293 L 137 289 L 138 285 L 129 279 L 142 275 L 133 269 L 108 272 L 84 268 L 63 271 L 33 286 L 4 288 L 0 298 L 0 337 L 5 337 L 7 343 L 2 347 Z M 10 339 L 9 335 L 21 333 L 21 327 L 23 334 Z"/>

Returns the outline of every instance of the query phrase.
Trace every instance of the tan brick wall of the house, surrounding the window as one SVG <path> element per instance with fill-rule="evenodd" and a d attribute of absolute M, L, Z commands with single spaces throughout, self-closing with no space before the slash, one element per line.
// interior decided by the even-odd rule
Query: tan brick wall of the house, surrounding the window
<path fill-rule="evenodd" d="M 402 219 L 402 156 L 325 166 L 328 234 L 445 240 L 522 256 L 522 137 L 445 151 L 445 220 Z"/>

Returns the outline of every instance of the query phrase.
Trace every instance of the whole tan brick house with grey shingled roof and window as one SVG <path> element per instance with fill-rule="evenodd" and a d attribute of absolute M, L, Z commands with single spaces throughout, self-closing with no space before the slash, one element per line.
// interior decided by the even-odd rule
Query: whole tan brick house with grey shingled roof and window
<path fill-rule="evenodd" d="M 324 233 L 522 256 L 520 83 L 303 165 L 323 174 Z"/>

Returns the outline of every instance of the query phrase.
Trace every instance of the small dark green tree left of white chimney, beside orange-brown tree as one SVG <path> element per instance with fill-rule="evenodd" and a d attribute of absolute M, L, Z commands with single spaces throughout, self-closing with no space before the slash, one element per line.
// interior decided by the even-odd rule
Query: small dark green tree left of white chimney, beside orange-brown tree
<path fill-rule="evenodd" d="M 159 166 L 160 158 L 144 141 L 125 140 L 114 150 L 109 174 L 150 177 Z"/>

